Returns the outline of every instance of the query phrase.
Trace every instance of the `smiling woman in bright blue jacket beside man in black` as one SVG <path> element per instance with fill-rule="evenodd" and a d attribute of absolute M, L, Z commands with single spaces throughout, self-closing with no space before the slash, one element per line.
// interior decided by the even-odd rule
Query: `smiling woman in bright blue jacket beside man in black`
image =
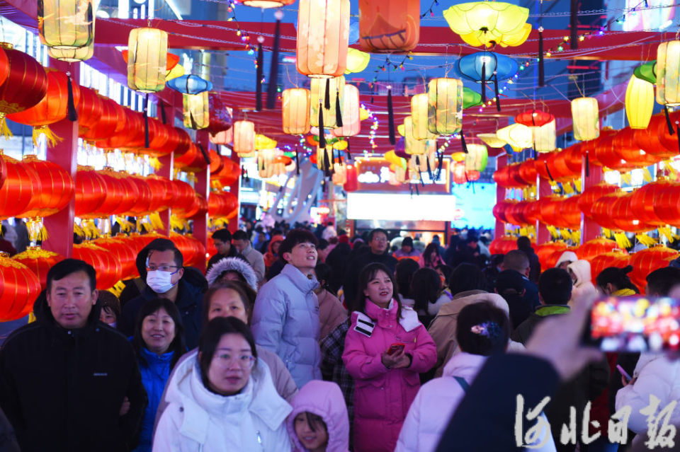
<path fill-rule="evenodd" d="M 156 410 L 165 383 L 173 366 L 186 352 L 184 328 L 175 303 L 166 299 L 152 299 L 142 306 L 132 337 L 132 347 L 137 354 L 142 383 L 149 398 L 140 442 L 133 452 L 151 452 Z"/>

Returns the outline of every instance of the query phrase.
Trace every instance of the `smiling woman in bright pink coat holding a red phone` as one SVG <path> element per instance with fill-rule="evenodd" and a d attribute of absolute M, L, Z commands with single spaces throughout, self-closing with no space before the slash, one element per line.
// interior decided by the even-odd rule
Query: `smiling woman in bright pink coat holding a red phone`
<path fill-rule="evenodd" d="M 418 315 L 402 306 L 392 273 L 382 264 L 359 274 L 356 309 L 342 359 L 354 378 L 356 452 L 392 452 L 420 388 L 419 373 L 437 358 Z"/>

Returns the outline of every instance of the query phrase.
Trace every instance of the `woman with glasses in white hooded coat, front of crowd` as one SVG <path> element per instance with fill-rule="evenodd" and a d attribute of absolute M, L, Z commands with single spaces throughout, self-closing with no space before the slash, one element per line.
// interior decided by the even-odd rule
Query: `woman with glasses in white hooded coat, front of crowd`
<path fill-rule="evenodd" d="M 267 366 L 257 360 L 248 326 L 235 317 L 210 320 L 198 355 L 177 366 L 154 434 L 154 452 L 288 452 L 285 418 Z"/>

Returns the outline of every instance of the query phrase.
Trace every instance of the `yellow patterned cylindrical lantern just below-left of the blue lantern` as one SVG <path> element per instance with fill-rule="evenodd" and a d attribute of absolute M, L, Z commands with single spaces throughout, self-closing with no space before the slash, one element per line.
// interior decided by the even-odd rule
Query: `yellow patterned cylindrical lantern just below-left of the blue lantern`
<path fill-rule="evenodd" d="M 437 135 L 460 132 L 463 127 L 463 81 L 432 79 L 427 96 L 429 131 Z"/>

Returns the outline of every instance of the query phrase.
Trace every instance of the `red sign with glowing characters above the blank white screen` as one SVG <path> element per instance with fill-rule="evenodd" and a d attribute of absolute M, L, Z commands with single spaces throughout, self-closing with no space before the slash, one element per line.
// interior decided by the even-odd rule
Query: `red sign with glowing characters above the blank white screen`
<path fill-rule="evenodd" d="M 439 180 L 431 180 L 429 174 L 422 173 L 423 183 L 418 185 L 418 190 L 424 194 L 444 194 L 450 192 L 448 160 L 444 160 L 441 167 Z M 404 192 L 411 191 L 409 184 L 390 185 L 390 163 L 382 158 L 357 158 L 356 170 L 358 180 L 358 192 Z M 436 168 L 432 168 L 436 173 Z"/>

